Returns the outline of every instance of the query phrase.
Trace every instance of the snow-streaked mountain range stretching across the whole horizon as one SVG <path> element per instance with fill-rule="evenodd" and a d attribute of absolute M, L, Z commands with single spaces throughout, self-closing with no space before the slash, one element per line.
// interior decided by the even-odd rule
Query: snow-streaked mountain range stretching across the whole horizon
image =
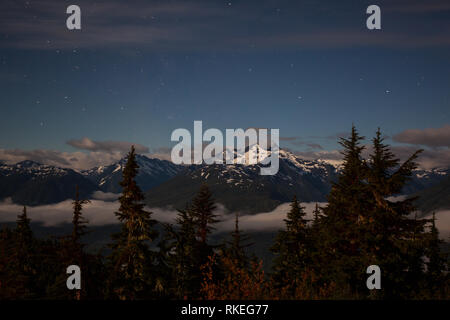
<path fill-rule="evenodd" d="M 260 152 L 257 146 L 252 148 L 256 150 L 247 148 L 245 157 L 251 152 Z M 138 155 L 136 160 L 140 167 L 136 181 L 150 207 L 183 208 L 200 185 L 206 183 L 217 202 L 228 210 L 243 213 L 273 210 L 292 200 L 294 195 L 304 202 L 326 201 L 340 170 L 335 163 L 305 160 L 286 150 L 280 150 L 279 171 L 273 176 L 260 175 L 261 164 L 185 166 L 143 155 Z M 89 198 L 95 191 L 120 193 L 119 182 L 125 163 L 126 159 L 121 159 L 107 166 L 75 171 L 33 161 L 12 165 L 0 162 L 0 199 L 11 198 L 14 203 L 30 206 L 57 203 L 72 199 L 76 185 L 83 198 Z M 403 193 L 423 194 L 427 199 L 439 190 L 448 195 L 445 181 L 449 177 L 450 169 L 416 170 Z M 439 183 L 444 186 L 439 187 Z M 429 189 L 434 191 L 428 194 Z M 425 210 L 424 207 L 435 203 L 423 202 L 421 206 Z"/>

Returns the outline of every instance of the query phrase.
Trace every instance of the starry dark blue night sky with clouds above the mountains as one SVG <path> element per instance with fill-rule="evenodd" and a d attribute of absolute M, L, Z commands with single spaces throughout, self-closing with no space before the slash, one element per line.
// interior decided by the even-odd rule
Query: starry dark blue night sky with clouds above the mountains
<path fill-rule="evenodd" d="M 0 112 L 6 161 L 83 168 L 124 142 L 162 156 L 202 120 L 279 128 L 282 147 L 323 158 L 352 123 L 381 127 L 449 165 L 450 2 L 2 0 Z"/>

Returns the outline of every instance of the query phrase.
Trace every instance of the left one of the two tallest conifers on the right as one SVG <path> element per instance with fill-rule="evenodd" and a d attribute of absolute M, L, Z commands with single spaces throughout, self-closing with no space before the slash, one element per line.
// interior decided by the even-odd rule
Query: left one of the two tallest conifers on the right
<path fill-rule="evenodd" d="M 364 183 L 365 161 L 361 145 L 364 137 L 352 126 L 348 139 L 340 138 L 344 148 L 343 165 L 338 181 L 323 208 L 320 274 L 325 282 L 335 282 L 342 292 L 354 291 L 364 285 L 362 275 L 367 266 L 361 261 L 361 230 L 363 213 L 372 207 L 369 190 Z"/>

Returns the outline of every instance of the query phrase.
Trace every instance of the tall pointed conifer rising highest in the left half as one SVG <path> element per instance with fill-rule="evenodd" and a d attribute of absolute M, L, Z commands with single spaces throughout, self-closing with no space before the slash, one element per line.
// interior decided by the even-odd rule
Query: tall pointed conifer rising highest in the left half
<path fill-rule="evenodd" d="M 156 222 L 151 219 L 152 213 L 144 209 L 144 195 L 135 180 L 138 169 L 132 146 L 120 183 L 123 188 L 120 208 L 115 213 L 122 223 L 122 230 L 113 236 L 110 256 L 110 293 L 119 299 L 145 298 L 154 289 L 151 276 L 154 256 L 148 242 L 157 236 L 153 229 Z"/>

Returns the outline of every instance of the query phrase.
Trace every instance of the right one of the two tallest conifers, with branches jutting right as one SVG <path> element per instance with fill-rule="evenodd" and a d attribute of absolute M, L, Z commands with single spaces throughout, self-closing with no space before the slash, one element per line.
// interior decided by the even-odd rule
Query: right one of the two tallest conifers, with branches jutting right
<path fill-rule="evenodd" d="M 419 283 L 422 273 L 424 225 L 426 221 L 410 219 L 415 210 L 412 199 L 389 201 L 400 194 L 416 168 L 415 159 L 421 150 L 400 164 L 400 160 L 384 144 L 380 129 L 372 140 L 373 152 L 366 166 L 365 180 L 370 191 L 372 209 L 365 211 L 360 224 L 361 254 L 367 265 L 376 264 L 383 270 L 384 297 L 408 294 L 401 292 L 406 284 Z M 414 254 L 412 254 L 414 252 Z M 409 270 L 408 276 L 404 270 Z M 408 280 L 407 280 L 408 278 Z"/>

